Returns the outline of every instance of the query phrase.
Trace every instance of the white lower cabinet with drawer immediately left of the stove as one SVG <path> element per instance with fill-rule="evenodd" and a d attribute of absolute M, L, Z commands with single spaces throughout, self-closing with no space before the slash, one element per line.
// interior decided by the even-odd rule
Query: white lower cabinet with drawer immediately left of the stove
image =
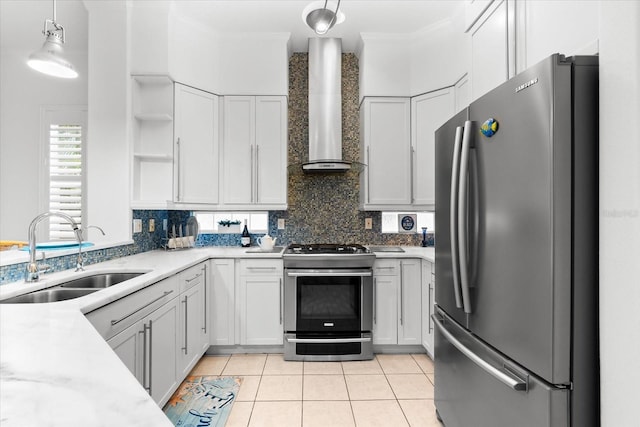
<path fill-rule="evenodd" d="M 238 269 L 240 344 L 282 345 L 282 260 L 243 259 Z"/>

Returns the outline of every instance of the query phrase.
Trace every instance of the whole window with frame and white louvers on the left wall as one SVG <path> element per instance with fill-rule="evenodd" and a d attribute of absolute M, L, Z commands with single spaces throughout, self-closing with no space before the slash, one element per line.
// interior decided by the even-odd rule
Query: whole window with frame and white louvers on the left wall
<path fill-rule="evenodd" d="M 46 204 L 49 212 L 62 212 L 80 227 L 85 216 L 84 145 L 85 116 L 82 109 L 45 111 Z M 47 240 L 75 240 L 69 224 L 58 217 L 49 218 Z"/>

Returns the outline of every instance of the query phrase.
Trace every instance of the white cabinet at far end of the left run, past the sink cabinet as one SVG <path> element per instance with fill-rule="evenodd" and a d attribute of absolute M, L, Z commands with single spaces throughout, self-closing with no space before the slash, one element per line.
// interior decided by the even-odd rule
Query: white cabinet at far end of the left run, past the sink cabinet
<path fill-rule="evenodd" d="M 177 371 L 184 378 L 209 348 L 207 264 L 191 267 L 178 277 L 181 292 Z"/>

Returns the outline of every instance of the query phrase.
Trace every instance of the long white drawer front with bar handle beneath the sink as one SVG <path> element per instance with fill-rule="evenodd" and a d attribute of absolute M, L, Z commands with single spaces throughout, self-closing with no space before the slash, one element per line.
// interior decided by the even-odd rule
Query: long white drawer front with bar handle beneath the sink
<path fill-rule="evenodd" d="M 109 339 L 177 297 L 177 285 L 175 277 L 162 280 L 87 313 L 86 317 L 104 339 Z"/>

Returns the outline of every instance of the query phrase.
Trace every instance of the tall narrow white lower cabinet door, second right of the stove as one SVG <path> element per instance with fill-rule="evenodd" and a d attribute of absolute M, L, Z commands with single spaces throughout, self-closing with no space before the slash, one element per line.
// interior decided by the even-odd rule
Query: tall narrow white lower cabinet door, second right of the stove
<path fill-rule="evenodd" d="M 418 259 L 400 261 L 398 344 L 422 343 L 421 269 Z"/>

